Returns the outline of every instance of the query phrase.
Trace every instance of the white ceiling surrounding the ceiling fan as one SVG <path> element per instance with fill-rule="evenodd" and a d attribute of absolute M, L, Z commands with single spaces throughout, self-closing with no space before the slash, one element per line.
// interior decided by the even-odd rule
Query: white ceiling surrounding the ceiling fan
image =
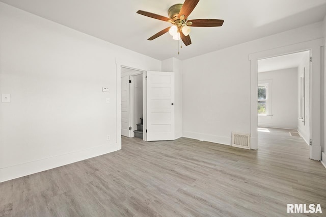
<path fill-rule="evenodd" d="M 201 0 L 188 19 L 224 19 L 221 27 L 192 28 L 193 44 L 177 54 L 177 41 L 167 33 L 168 22 L 137 14 L 144 10 L 168 16 L 170 6 L 183 0 L 0 0 L 158 60 L 188 59 L 268 35 L 321 21 L 326 0 Z"/>

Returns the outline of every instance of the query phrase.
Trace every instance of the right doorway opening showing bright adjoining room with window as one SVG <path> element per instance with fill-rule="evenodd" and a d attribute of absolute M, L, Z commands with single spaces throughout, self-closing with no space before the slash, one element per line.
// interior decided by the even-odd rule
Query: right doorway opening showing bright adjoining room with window
<path fill-rule="evenodd" d="M 283 144 L 293 149 L 310 141 L 310 50 L 258 62 L 258 147 Z M 280 136 L 282 135 L 282 136 Z M 271 148 L 271 147 L 270 147 Z"/>

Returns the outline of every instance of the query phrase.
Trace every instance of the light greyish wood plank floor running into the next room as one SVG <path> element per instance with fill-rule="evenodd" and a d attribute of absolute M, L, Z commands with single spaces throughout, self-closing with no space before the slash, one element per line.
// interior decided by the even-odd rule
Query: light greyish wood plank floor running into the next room
<path fill-rule="evenodd" d="M 326 169 L 268 130 L 257 151 L 123 137 L 120 151 L 0 183 L 0 216 L 287 216 L 288 203 L 325 216 Z"/>

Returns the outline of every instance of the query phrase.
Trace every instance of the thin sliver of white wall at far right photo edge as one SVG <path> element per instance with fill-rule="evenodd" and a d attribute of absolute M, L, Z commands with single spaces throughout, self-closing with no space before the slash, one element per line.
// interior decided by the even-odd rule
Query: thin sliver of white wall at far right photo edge
<path fill-rule="evenodd" d="M 321 160 L 323 165 L 326 167 L 326 16 L 323 20 L 323 37 L 324 37 L 324 53 L 323 53 L 323 92 L 321 96 L 323 97 L 323 106 L 322 106 L 322 113 L 323 113 L 323 120 L 322 121 L 322 131 L 321 134 L 323 135 L 322 139 L 322 146 L 321 146 Z"/>

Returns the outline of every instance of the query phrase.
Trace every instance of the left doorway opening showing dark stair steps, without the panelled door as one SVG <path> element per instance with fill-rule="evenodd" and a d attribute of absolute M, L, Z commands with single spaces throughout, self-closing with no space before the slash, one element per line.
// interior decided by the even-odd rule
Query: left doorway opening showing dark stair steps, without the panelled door
<path fill-rule="evenodd" d="M 121 67 L 121 135 L 143 139 L 144 72 Z"/>

